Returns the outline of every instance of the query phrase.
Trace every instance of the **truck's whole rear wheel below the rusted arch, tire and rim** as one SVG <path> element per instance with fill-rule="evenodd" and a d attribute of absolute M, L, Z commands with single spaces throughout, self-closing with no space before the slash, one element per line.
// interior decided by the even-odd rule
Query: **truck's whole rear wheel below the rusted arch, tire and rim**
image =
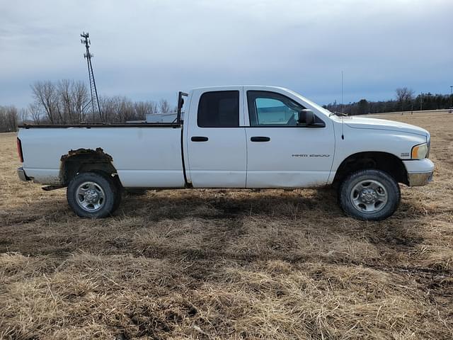
<path fill-rule="evenodd" d="M 88 196 L 82 195 L 82 192 Z M 113 178 L 107 174 L 84 172 L 77 174 L 69 182 L 67 200 L 76 215 L 102 218 L 110 216 L 118 208 L 121 201 L 121 191 Z"/>

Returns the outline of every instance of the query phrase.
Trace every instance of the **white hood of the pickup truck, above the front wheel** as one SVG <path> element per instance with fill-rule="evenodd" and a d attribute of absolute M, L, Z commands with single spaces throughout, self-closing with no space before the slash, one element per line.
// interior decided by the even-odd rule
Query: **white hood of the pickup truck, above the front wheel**
<path fill-rule="evenodd" d="M 343 117 L 344 123 L 350 128 L 355 129 L 374 129 L 374 130 L 390 130 L 398 132 L 414 133 L 428 137 L 430 134 L 427 130 L 415 125 L 395 122 L 394 120 L 367 118 L 367 117 Z"/>

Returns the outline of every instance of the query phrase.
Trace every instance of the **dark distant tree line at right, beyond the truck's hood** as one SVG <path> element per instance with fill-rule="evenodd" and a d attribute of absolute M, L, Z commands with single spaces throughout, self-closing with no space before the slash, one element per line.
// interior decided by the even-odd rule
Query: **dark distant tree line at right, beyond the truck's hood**
<path fill-rule="evenodd" d="M 347 115 L 366 115 L 367 113 L 386 113 L 402 111 L 441 110 L 450 108 L 452 96 L 449 94 L 418 94 L 407 87 L 395 90 L 395 98 L 389 101 L 360 101 L 348 104 L 339 104 L 336 101 L 324 108 L 332 112 L 342 112 Z"/>

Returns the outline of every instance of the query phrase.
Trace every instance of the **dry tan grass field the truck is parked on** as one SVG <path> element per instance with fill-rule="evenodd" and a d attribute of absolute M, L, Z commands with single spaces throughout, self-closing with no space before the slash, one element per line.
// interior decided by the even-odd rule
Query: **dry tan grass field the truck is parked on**
<path fill-rule="evenodd" d="M 0 134 L 0 339 L 452 339 L 453 115 L 383 222 L 331 189 L 148 191 L 83 220 Z"/>

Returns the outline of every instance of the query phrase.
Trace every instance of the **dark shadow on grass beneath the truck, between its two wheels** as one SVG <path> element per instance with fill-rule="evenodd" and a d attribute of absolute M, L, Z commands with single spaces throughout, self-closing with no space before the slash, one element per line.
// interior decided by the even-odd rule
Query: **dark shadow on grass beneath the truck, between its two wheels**
<path fill-rule="evenodd" d="M 292 218 L 303 212 L 316 212 L 321 215 L 340 215 L 336 204 L 336 192 L 330 188 L 309 190 L 309 193 L 284 190 L 190 190 L 151 191 L 143 196 L 123 196 L 122 205 L 114 215 L 134 214 L 148 210 L 147 218 L 158 221 L 163 218 L 183 219 L 198 217 L 203 219 L 237 218 L 243 216 Z M 301 195 L 300 193 L 304 193 Z M 137 210 L 139 208 L 140 210 Z"/>

